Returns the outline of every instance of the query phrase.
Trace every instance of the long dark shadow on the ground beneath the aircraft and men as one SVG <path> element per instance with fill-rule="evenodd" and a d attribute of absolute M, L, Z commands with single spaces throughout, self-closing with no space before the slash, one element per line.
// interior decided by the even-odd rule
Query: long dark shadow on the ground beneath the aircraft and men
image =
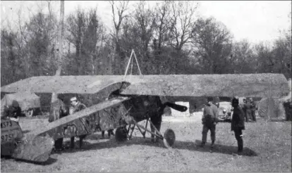
<path fill-rule="evenodd" d="M 88 136 L 87 139 L 96 140 L 97 135 Z M 209 143 L 206 144 L 204 148 L 200 147 L 201 141 L 196 140 L 195 143 L 193 141 L 176 141 L 174 148 L 181 149 L 181 150 L 190 150 L 190 151 L 199 151 L 199 152 L 210 152 Z M 98 143 L 89 143 L 87 141 L 83 142 L 83 148 L 79 148 L 79 141 L 75 142 L 75 149 L 67 149 L 63 150 L 61 153 L 75 153 L 81 150 L 99 150 L 103 148 L 116 148 L 120 146 L 132 146 L 132 145 L 145 145 L 145 146 L 154 146 L 159 148 L 164 148 L 164 144 L 162 141 L 157 143 L 152 143 L 149 138 L 143 139 L 142 137 L 135 137 L 129 141 L 124 142 L 116 142 L 114 137 L 111 139 L 103 139 L 100 140 Z M 233 155 L 233 153 L 237 153 L 236 146 L 224 146 L 220 144 L 216 144 L 212 149 L 212 153 L 224 153 Z M 245 156 L 257 156 L 254 150 L 250 148 L 243 148 L 243 153 L 241 155 Z"/>

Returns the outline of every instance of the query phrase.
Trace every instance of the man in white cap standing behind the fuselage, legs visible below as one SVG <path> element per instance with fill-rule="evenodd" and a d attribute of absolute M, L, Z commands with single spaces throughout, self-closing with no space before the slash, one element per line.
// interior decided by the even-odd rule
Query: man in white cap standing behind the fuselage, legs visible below
<path fill-rule="evenodd" d="M 70 114 L 76 113 L 86 108 L 86 105 L 78 101 L 76 97 L 71 98 L 70 102 L 71 102 Z M 83 139 L 85 139 L 85 136 L 86 134 L 78 136 L 80 148 L 83 144 Z M 74 142 L 75 142 L 75 136 L 71 137 L 71 148 L 74 148 Z"/>

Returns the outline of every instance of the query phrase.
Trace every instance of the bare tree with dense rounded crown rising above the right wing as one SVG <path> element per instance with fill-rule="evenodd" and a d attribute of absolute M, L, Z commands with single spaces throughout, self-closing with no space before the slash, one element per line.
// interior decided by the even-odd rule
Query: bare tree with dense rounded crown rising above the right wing
<path fill-rule="evenodd" d="M 192 41 L 195 58 L 209 74 L 223 73 L 231 56 L 232 35 L 223 23 L 214 18 L 199 19 L 193 25 Z"/>

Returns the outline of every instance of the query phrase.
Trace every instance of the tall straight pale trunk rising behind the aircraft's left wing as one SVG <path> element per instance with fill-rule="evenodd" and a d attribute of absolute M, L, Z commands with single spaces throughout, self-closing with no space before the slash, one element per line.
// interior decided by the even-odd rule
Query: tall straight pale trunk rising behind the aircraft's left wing
<path fill-rule="evenodd" d="M 61 0 L 61 6 L 60 6 L 60 22 L 59 22 L 59 31 L 58 31 L 58 37 L 59 37 L 59 50 L 58 50 L 58 69 L 56 70 L 55 76 L 61 75 L 62 70 L 62 53 L 63 53 L 63 21 L 64 21 L 64 1 Z M 52 93 L 51 94 L 51 103 L 54 103 L 58 97 L 58 94 Z"/>

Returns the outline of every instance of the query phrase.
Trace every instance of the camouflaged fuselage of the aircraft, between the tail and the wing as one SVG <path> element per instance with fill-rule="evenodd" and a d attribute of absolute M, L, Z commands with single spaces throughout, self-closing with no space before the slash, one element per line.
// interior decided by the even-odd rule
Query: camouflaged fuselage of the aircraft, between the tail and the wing
<path fill-rule="evenodd" d="M 49 135 L 56 140 L 63 137 L 90 134 L 97 131 L 97 129 L 116 129 L 121 126 L 121 117 L 127 113 L 126 108 L 121 104 L 126 100 L 128 100 L 126 97 L 114 98 L 92 105 L 77 113 L 50 122 L 45 127 L 35 129 L 33 132 L 26 134 L 26 136 Z"/>

